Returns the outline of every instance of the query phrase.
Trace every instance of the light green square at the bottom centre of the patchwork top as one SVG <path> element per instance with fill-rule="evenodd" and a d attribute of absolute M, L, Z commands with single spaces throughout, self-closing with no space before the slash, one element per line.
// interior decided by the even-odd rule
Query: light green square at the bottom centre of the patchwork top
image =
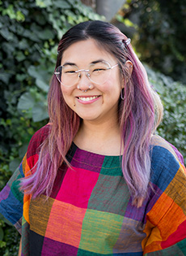
<path fill-rule="evenodd" d="M 120 236 L 123 219 L 120 215 L 87 209 L 82 222 L 79 249 L 95 254 L 112 254 L 113 246 Z"/>

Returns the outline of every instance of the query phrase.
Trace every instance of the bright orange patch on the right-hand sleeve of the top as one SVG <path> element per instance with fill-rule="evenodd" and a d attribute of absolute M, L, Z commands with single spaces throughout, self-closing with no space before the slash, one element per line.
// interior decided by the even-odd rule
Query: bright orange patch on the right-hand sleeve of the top
<path fill-rule="evenodd" d="M 168 236 L 174 233 L 186 219 L 183 210 L 171 197 L 163 193 L 154 207 L 147 214 L 146 238 L 142 241 L 145 254 L 154 250 L 163 249 L 161 243 L 167 241 Z"/>

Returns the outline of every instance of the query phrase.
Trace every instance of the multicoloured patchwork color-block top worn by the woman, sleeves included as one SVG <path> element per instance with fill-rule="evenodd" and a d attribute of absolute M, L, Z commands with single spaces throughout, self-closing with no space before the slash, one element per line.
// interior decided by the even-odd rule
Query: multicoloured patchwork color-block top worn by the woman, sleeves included
<path fill-rule="evenodd" d="M 74 143 L 48 200 L 19 192 L 19 178 L 38 160 L 49 125 L 32 137 L 23 162 L 0 194 L 0 212 L 22 232 L 22 255 L 186 255 L 186 174 L 179 152 L 152 138 L 149 197 L 131 204 L 120 156 Z"/>

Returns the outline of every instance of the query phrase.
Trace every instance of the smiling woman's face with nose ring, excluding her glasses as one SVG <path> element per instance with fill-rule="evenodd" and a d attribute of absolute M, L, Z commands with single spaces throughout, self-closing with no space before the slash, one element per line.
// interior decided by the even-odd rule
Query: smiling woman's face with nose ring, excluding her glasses
<path fill-rule="evenodd" d="M 62 55 L 61 66 L 70 63 L 70 67 L 75 65 L 78 70 L 89 69 L 92 63 L 100 60 L 108 62 L 111 67 L 117 64 L 117 59 L 104 50 L 104 47 L 100 48 L 93 39 L 88 39 L 67 48 Z M 81 72 L 75 85 L 68 87 L 61 84 L 66 104 L 84 121 L 104 122 L 107 119 L 117 119 L 118 100 L 124 83 L 118 66 L 108 71 L 108 74 L 108 80 L 100 85 L 91 81 L 85 72 Z"/>

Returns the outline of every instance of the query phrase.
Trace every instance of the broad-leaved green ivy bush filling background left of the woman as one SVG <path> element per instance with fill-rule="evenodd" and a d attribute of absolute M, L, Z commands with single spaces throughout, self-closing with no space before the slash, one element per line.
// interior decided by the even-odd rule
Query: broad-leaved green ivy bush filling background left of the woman
<path fill-rule="evenodd" d="M 23 157 L 33 132 L 47 122 L 49 80 L 62 33 L 100 17 L 77 0 L 1 1 L 0 12 L 0 158 L 9 154 L 15 161 L 18 151 Z M 11 170 L 15 165 L 11 162 Z"/>

